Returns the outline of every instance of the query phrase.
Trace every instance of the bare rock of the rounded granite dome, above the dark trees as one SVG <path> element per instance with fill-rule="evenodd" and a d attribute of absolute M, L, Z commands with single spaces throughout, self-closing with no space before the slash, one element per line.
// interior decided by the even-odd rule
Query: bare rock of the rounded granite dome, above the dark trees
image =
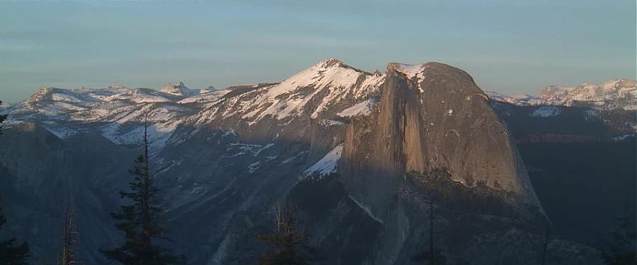
<path fill-rule="evenodd" d="M 445 169 L 468 187 L 478 183 L 540 208 L 505 124 L 466 72 L 446 64 L 389 64 L 378 108 L 352 120 L 340 172 L 372 212 L 411 172 Z"/>

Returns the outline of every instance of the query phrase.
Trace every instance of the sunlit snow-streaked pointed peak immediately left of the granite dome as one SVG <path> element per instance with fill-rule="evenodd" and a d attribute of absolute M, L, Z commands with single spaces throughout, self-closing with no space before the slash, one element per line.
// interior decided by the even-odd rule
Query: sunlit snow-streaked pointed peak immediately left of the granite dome
<path fill-rule="evenodd" d="M 346 108 L 377 96 L 384 75 L 363 72 L 335 59 L 323 60 L 277 84 L 243 86 L 217 104 L 207 106 L 197 123 L 238 118 L 247 125 L 264 119 L 335 118 Z M 340 116 L 362 111 L 345 111 Z"/>

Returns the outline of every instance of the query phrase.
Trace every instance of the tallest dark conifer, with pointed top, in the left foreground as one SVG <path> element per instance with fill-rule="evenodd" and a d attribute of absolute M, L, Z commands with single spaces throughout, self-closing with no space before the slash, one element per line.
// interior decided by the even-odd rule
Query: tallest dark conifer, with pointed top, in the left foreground
<path fill-rule="evenodd" d="M 157 239 L 166 239 L 163 237 L 166 231 L 160 225 L 159 189 L 153 185 L 149 170 L 147 129 L 148 122 L 145 120 L 144 153 L 137 157 L 130 171 L 134 176 L 129 183 L 130 192 L 120 192 L 120 196 L 132 201 L 132 204 L 122 205 L 119 212 L 111 214 L 117 220 L 117 229 L 124 232 L 125 243 L 102 252 L 106 258 L 126 265 L 183 264 L 184 256 L 172 254 L 169 249 L 156 244 Z"/>

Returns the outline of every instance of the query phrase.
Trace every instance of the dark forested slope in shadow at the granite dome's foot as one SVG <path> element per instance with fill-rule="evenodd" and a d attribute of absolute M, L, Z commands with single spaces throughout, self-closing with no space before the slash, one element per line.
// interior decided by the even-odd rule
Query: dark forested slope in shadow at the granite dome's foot
<path fill-rule="evenodd" d="M 408 174 L 384 220 L 342 186 L 338 174 L 308 178 L 287 197 L 304 220 L 312 220 L 305 222 L 311 242 L 330 253 L 326 264 L 415 264 L 413 257 L 429 249 L 431 201 L 435 249 L 447 264 L 539 264 L 545 253 L 546 222 L 532 205 L 527 212 L 536 218 L 529 220 L 500 191 L 468 188 L 444 171 Z M 549 237 L 546 264 L 600 264 L 598 254 Z"/>

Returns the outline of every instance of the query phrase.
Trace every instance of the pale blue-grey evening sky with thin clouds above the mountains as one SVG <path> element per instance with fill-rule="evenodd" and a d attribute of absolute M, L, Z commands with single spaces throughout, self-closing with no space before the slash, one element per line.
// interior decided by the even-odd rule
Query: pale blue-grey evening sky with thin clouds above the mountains
<path fill-rule="evenodd" d="M 0 100 L 40 86 L 280 81 L 444 62 L 483 90 L 636 78 L 635 0 L 0 1 Z"/>

